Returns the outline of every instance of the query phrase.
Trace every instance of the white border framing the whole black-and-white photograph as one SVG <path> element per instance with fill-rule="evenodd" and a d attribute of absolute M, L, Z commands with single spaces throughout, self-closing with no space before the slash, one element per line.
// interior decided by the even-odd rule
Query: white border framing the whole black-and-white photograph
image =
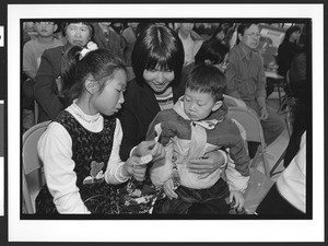
<path fill-rule="evenodd" d="M 293 11 L 291 11 L 293 10 Z M 313 220 L 20 220 L 20 20 L 199 17 L 312 19 Z M 323 4 L 8 4 L 9 242 L 324 242 L 324 5 Z M 279 237 L 277 237 L 279 232 Z"/>

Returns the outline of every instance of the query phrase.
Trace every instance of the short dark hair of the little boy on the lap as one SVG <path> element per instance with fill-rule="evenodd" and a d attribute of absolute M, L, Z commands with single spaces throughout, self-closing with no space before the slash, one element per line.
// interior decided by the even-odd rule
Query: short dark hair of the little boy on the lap
<path fill-rule="evenodd" d="M 198 65 L 189 73 L 186 89 L 201 93 L 209 93 L 214 102 L 223 101 L 225 75 L 212 65 Z"/>

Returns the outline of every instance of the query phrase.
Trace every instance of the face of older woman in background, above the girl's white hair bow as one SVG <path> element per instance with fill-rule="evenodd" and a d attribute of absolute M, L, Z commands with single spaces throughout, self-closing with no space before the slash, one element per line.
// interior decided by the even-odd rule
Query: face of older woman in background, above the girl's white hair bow
<path fill-rule="evenodd" d="M 84 47 L 91 38 L 91 30 L 82 22 L 70 23 L 66 27 L 66 36 L 71 45 Z"/>

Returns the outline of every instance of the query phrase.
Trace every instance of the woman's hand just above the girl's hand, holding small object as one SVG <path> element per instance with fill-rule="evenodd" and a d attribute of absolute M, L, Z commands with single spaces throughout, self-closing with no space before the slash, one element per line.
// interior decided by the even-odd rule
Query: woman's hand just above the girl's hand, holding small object
<path fill-rule="evenodd" d="M 133 155 L 143 156 L 147 154 L 152 154 L 153 161 L 157 161 L 165 157 L 165 150 L 164 147 L 155 140 L 142 141 L 134 149 Z"/>

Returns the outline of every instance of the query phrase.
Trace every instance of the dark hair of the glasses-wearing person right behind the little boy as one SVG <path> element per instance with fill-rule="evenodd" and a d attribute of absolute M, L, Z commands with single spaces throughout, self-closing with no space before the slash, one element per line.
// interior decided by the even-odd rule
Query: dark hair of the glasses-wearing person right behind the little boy
<path fill-rule="evenodd" d="M 211 38 L 200 46 L 195 56 L 195 65 L 203 63 L 206 60 L 209 60 L 212 65 L 219 65 L 224 60 L 227 52 L 229 47 L 226 45 L 223 45 L 216 38 Z"/>

